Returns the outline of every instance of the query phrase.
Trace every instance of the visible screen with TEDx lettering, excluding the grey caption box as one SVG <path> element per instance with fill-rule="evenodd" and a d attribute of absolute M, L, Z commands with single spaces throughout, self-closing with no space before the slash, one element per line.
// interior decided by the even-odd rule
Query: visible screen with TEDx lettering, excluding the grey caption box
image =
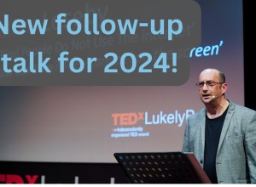
<path fill-rule="evenodd" d="M 114 152 L 180 151 L 186 118 L 203 107 L 195 82 L 207 67 L 224 72 L 227 99 L 244 105 L 242 1 L 195 2 L 197 47 L 208 52 L 178 51 L 189 58 L 181 85 L 1 86 L 0 161 L 117 163 Z"/>

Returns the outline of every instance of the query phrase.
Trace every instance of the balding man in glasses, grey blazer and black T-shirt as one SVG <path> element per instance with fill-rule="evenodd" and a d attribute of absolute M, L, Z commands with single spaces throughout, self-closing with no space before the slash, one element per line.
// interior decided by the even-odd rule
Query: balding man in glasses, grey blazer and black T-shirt
<path fill-rule="evenodd" d="M 256 111 L 225 98 L 228 85 L 216 69 L 201 72 L 205 108 L 189 116 L 183 152 L 193 152 L 213 184 L 256 183 Z"/>

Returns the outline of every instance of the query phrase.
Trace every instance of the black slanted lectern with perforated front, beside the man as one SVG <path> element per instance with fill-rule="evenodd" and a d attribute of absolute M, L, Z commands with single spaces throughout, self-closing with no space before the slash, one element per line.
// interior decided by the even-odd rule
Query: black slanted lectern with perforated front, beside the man
<path fill-rule="evenodd" d="M 211 184 L 193 153 L 114 153 L 131 184 Z"/>

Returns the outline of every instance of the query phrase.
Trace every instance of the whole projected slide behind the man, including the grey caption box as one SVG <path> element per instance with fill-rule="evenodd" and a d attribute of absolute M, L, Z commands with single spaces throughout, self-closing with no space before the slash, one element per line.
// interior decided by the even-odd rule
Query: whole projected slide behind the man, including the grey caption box
<path fill-rule="evenodd" d="M 224 71 L 227 99 L 244 105 L 240 0 L 187 1 L 190 8 L 172 0 L 28 2 L 27 12 L 20 1 L 0 8 L 1 161 L 116 162 L 114 152 L 180 151 L 187 117 L 204 106 L 195 82 L 207 67 Z M 115 57 L 120 65 L 109 65 Z M 145 58 L 164 66 L 132 66 Z M 102 67 L 112 72 L 97 77 Z"/>

